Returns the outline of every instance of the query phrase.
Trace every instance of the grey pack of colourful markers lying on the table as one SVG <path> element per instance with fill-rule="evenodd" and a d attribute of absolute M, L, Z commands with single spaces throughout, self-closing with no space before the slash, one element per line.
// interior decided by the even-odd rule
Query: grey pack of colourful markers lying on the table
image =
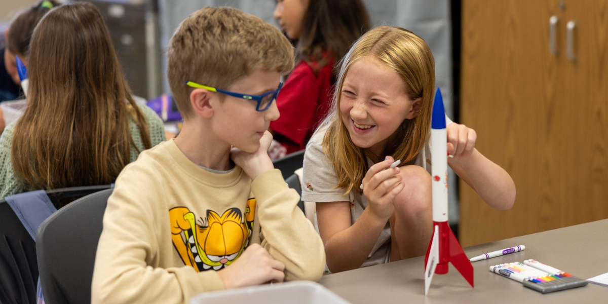
<path fill-rule="evenodd" d="M 529 263 L 533 261 L 533 263 Z M 548 292 L 587 285 L 587 280 L 552 268 L 539 261 L 527 260 L 490 266 L 489 270 L 503 277 L 521 282 L 523 286 L 547 294 Z"/>

